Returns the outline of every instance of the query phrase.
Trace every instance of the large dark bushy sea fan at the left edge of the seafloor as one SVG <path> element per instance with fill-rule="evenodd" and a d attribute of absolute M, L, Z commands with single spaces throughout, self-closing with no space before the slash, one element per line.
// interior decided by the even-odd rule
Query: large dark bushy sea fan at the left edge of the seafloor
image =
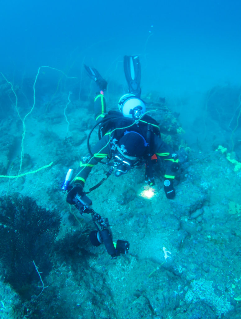
<path fill-rule="evenodd" d="M 5 281 L 22 293 L 33 293 L 39 276 L 51 269 L 52 243 L 59 232 L 60 217 L 39 207 L 30 197 L 0 198 L 0 261 Z M 36 286 L 35 286 L 36 287 Z M 38 291 L 35 293 L 37 294 Z"/>

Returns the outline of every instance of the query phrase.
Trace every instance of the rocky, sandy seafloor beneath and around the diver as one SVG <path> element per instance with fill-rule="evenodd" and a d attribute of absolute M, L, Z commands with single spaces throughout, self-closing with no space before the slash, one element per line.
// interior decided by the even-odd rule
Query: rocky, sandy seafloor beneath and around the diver
<path fill-rule="evenodd" d="M 4 174 L 17 175 L 23 123 L 4 82 L 2 90 L 11 98 L 11 110 L 1 121 L 0 162 L 7 168 Z M 81 156 L 87 153 L 86 137 L 95 123 L 91 109 L 94 89 L 84 100 L 67 105 L 68 93 L 62 88 L 52 100 L 47 96 L 36 101 L 25 120 L 23 147 L 29 156 L 24 156 L 20 174 L 53 161 L 52 166 L 17 179 L 1 178 L 0 193 L 2 197 L 21 193 L 41 207 L 56 209 L 62 218 L 57 243 L 70 234 L 72 246 L 69 251 L 65 247 L 65 253 L 55 250 L 52 254 L 52 270 L 43 279 L 48 287 L 37 299 L 21 298 L 4 282 L 2 271 L 0 317 L 241 318 L 241 170 L 234 171 L 226 153 L 216 151 L 218 145 L 225 146 L 226 133 L 218 125 L 207 124 L 212 131 L 202 145 L 189 145 L 182 134 L 164 134 L 170 143 L 172 137 L 175 145 L 179 141 L 180 159 L 185 159 L 174 200 L 166 198 L 162 176 L 151 188 L 152 198 L 141 196 L 149 188 L 144 167 L 120 178 L 112 174 L 89 194 L 93 209 L 108 217 L 114 239 L 130 242 L 128 255 L 111 260 L 103 245 L 91 246 L 88 232 L 94 227 L 89 216 L 79 216 L 80 225 L 60 189 L 68 168 L 78 172 Z M 157 99 L 151 94 L 146 98 L 149 102 Z M 116 100 L 117 96 L 108 96 L 109 108 Z M 31 103 L 24 109 L 23 103 L 17 106 L 22 119 Z M 167 105 L 178 111 L 168 99 Z M 86 190 L 107 170 L 101 164 L 94 167 Z M 81 232 L 82 236 L 76 235 Z M 79 238 L 83 242 L 75 243 Z M 171 252 L 167 261 L 163 247 Z M 33 287 L 38 295 L 41 284 L 34 282 Z"/>

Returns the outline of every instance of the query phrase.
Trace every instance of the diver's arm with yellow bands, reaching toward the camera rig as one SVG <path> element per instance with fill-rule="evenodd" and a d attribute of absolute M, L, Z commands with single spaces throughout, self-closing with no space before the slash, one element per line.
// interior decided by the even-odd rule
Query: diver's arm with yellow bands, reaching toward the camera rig
<path fill-rule="evenodd" d="M 109 141 L 109 134 L 102 137 L 91 150 L 93 153 L 93 157 L 88 156 L 86 157 L 86 161 L 80 162 L 80 172 L 74 179 L 75 183 L 79 183 L 82 187 L 84 187 L 84 184 L 92 167 L 98 164 L 101 159 L 104 159 L 106 156 L 111 156 L 111 146 Z"/>

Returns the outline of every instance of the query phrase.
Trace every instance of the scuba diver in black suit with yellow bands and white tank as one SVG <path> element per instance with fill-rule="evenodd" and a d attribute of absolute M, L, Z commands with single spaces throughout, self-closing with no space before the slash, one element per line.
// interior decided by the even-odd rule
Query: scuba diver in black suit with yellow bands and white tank
<path fill-rule="evenodd" d="M 124 56 L 124 71 L 128 84 L 128 93 L 118 103 L 118 111 L 106 112 L 104 91 L 107 81 L 100 73 L 85 65 L 88 76 L 98 86 L 94 99 L 96 125 L 99 127 L 99 141 L 90 149 L 89 155 L 80 162 L 80 172 L 74 178 L 73 185 L 67 189 L 67 202 L 75 204 L 76 194 L 82 194 L 83 188 L 93 166 L 99 162 L 111 168 L 107 177 L 115 170 L 115 176 L 126 174 L 130 169 L 145 163 L 145 182 L 154 185 L 153 162 L 158 159 L 165 161 L 167 169 L 164 175 L 164 191 L 168 199 L 175 197 L 173 180 L 179 168 L 177 155 L 161 140 L 158 123 L 146 112 L 145 102 L 141 99 L 141 64 L 138 56 Z M 103 159 L 107 158 L 107 162 Z M 106 177 L 106 178 L 107 178 Z M 92 187 L 100 186 L 106 178 Z M 87 193 L 85 193 L 87 194 Z"/>

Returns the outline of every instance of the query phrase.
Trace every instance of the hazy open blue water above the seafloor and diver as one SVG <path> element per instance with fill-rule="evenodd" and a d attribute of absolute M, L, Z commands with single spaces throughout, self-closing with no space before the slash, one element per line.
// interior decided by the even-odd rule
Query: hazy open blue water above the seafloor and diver
<path fill-rule="evenodd" d="M 143 93 L 239 85 L 240 12 L 224 0 L 1 1 L 0 70 L 15 84 L 41 65 L 80 78 L 84 62 L 121 84 L 123 55 L 138 54 Z"/>

